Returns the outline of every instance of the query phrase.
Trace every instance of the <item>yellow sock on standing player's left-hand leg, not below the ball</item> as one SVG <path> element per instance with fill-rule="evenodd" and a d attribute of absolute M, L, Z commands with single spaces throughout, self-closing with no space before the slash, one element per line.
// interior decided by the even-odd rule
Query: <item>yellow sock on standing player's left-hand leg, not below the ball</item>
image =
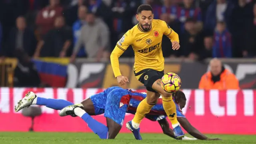
<path fill-rule="evenodd" d="M 137 111 L 135 113 L 135 116 L 133 118 L 133 122 L 140 124 L 142 119 L 145 117 L 146 114 L 148 114 L 153 106 L 149 105 L 146 102 L 146 98 L 140 102 L 138 105 Z"/>

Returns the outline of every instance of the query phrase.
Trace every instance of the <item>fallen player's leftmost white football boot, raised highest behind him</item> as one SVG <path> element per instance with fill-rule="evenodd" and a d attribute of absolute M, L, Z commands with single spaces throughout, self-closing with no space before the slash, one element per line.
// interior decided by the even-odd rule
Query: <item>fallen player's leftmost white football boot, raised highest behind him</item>
<path fill-rule="evenodd" d="M 18 102 L 18 105 L 14 107 L 15 112 L 20 111 L 23 108 L 28 108 L 33 100 L 36 98 L 36 94 L 34 92 L 28 92 L 22 100 Z"/>

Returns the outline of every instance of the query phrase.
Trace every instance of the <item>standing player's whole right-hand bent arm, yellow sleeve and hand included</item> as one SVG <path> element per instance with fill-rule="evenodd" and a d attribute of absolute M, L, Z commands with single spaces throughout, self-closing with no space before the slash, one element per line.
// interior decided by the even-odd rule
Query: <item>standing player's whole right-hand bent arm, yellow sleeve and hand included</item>
<path fill-rule="evenodd" d="M 178 50 L 180 48 L 179 35 L 164 21 L 162 21 L 162 28 L 164 30 L 164 35 L 166 35 L 172 42 L 172 49 Z"/>

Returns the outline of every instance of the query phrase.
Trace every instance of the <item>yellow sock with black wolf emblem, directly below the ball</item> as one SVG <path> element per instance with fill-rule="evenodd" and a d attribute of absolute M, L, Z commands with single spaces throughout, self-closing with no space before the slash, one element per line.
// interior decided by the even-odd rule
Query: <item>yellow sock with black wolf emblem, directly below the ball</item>
<path fill-rule="evenodd" d="M 170 98 L 162 97 L 164 111 L 166 112 L 169 120 L 172 124 L 178 124 L 177 114 L 176 114 L 176 105 L 172 100 L 172 96 Z"/>

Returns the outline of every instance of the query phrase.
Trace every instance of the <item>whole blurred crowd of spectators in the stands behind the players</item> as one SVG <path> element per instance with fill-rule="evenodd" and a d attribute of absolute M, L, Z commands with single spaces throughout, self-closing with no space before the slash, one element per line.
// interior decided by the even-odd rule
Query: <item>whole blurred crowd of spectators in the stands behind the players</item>
<path fill-rule="evenodd" d="M 180 36 L 164 57 L 192 60 L 256 56 L 256 0 L 0 0 L 0 58 L 17 50 L 30 57 L 109 58 L 136 23 L 136 9 L 150 4 Z M 133 57 L 132 48 L 123 57 Z"/>

